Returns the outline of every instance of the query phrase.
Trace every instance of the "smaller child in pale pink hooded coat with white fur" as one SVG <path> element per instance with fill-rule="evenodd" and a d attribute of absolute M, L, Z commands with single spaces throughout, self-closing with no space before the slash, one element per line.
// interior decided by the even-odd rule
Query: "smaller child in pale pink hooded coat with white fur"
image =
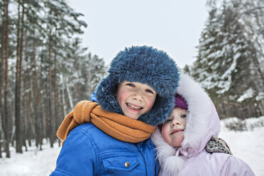
<path fill-rule="evenodd" d="M 254 175 L 216 137 L 220 119 L 214 104 L 187 75 L 181 73 L 175 109 L 159 128 L 151 136 L 161 166 L 159 175 Z M 214 145 L 207 145 L 210 139 Z"/>

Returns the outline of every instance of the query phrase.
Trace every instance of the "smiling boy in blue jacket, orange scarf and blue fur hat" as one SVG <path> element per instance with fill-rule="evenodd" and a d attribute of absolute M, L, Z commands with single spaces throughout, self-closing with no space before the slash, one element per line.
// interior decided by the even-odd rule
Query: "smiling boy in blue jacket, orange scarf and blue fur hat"
<path fill-rule="evenodd" d="M 178 79 L 163 51 L 121 51 L 97 87 L 98 104 L 81 101 L 62 121 L 63 146 L 51 175 L 158 175 L 149 137 L 170 116 Z"/>

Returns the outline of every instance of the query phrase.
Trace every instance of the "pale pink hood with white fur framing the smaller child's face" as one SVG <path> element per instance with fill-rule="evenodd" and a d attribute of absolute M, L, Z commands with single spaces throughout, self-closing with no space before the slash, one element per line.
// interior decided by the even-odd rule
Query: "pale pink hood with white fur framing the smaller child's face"
<path fill-rule="evenodd" d="M 192 158 L 207 145 L 211 136 L 218 136 L 220 119 L 208 94 L 202 87 L 183 73 L 180 73 L 180 86 L 177 93 L 188 104 L 187 125 L 182 147 L 172 148 L 164 140 L 157 128 L 151 136 L 158 151 L 158 160 L 164 175 L 177 175 L 185 165 L 185 158 Z M 179 154 L 181 153 L 181 154 Z"/>

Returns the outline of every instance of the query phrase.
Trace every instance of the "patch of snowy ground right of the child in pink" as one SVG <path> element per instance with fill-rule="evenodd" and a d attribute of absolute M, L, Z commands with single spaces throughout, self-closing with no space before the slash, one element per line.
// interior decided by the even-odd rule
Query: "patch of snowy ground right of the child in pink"
<path fill-rule="evenodd" d="M 255 175 L 264 175 L 264 116 L 242 121 L 249 131 L 229 131 L 224 126 L 226 121 L 238 121 L 238 119 L 222 120 L 219 137 L 226 141 L 234 156 L 248 163 Z"/>

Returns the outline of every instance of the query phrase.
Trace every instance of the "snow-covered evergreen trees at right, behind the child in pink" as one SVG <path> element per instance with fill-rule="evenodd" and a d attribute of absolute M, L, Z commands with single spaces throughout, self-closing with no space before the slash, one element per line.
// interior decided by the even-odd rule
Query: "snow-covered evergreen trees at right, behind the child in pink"
<path fill-rule="evenodd" d="M 263 11 L 260 0 L 210 6 L 191 75 L 202 82 L 216 106 L 223 101 L 242 102 L 264 114 Z"/>

